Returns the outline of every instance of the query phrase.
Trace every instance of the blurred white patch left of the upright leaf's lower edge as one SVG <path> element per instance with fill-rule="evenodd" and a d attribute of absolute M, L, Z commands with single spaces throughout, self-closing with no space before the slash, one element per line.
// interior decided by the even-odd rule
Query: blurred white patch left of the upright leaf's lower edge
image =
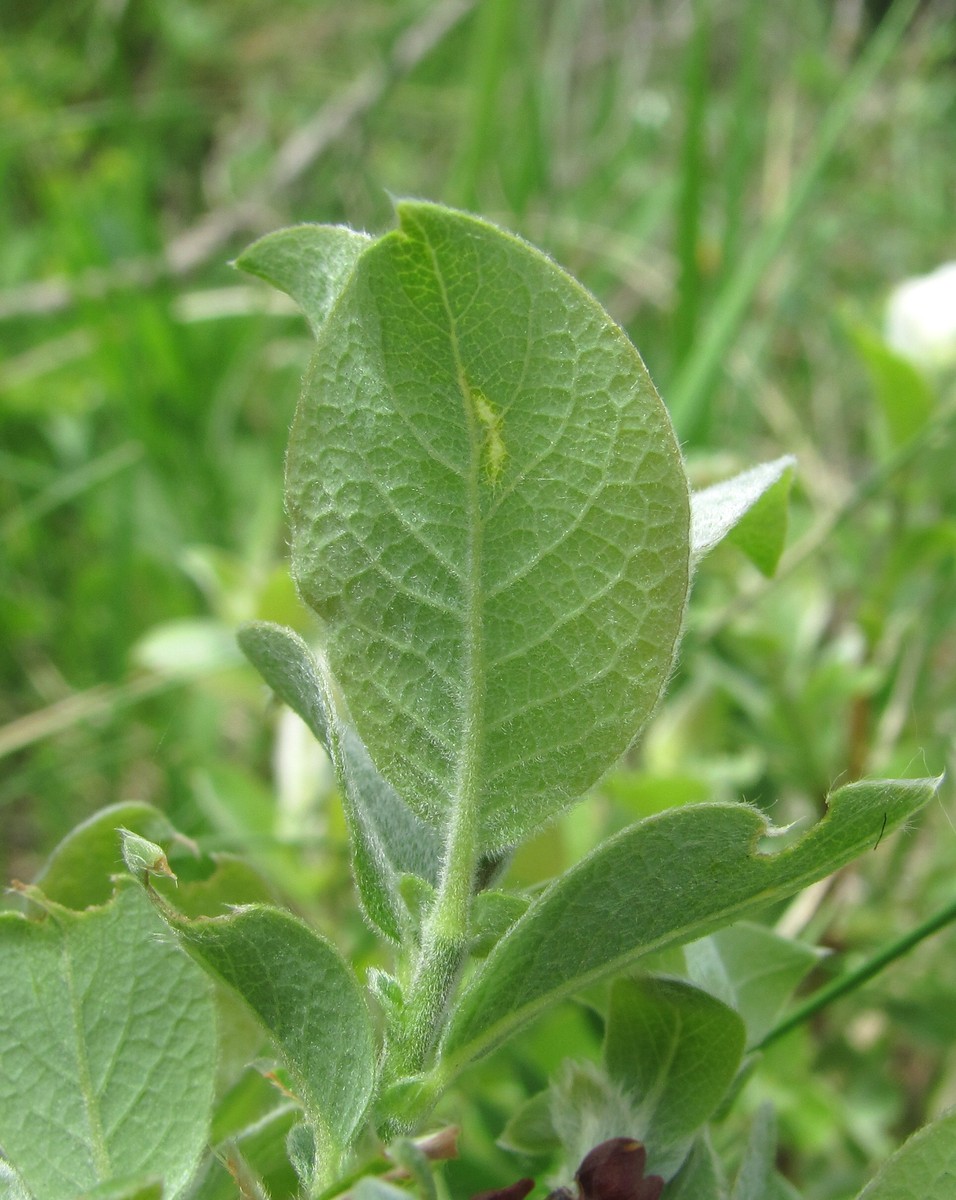
<path fill-rule="evenodd" d="M 335 774 L 329 755 L 290 708 L 279 713 L 272 766 L 278 793 L 277 836 L 290 841 L 320 836 L 324 800 L 335 787 Z"/>

